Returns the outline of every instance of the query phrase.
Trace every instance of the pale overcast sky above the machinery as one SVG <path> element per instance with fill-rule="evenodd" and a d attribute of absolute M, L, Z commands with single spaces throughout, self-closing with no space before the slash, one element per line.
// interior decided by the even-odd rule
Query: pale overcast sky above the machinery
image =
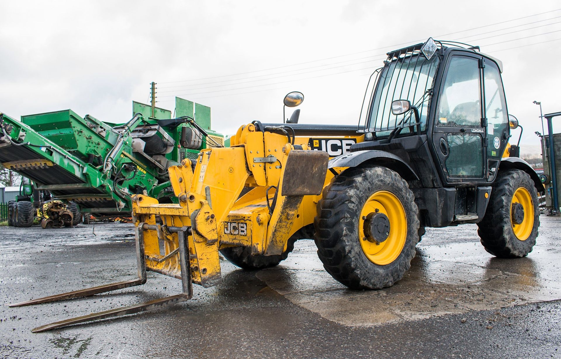
<path fill-rule="evenodd" d="M 503 61 L 523 144 L 539 145 L 532 101 L 561 111 L 558 1 L 1 0 L 0 13 L 0 111 L 11 116 L 70 108 L 125 122 L 155 81 L 158 106 L 173 110 L 175 95 L 208 105 L 224 134 L 281 121 L 293 90 L 305 95 L 301 123 L 356 124 L 384 53 L 429 36 Z"/>

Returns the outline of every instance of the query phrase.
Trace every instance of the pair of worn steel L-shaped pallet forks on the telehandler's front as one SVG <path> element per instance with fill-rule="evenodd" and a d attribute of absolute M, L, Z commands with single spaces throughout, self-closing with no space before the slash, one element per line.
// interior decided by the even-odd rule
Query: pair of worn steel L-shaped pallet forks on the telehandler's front
<path fill-rule="evenodd" d="M 10 307 L 18 307 L 18 306 L 25 306 L 25 305 L 34 305 L 34 304 L 42 304 L 48 302 L 55 302 L 61 300 L 68 300 L 73 298 L 81 298 L 81 297 L 88 297 L 92 295 L 96 295 L 99 293 L 111 292 L 118 289 L 128 288 L 128 287 L 135 287 L 140 286 L 146 283 L 146 262 L 145 257 L 146 254 L 144 252 L 144 230 L 159 230 L 157 225 L 148 225 L 148 223 L 140 223 L 139 226 L 135 227 L 135 242 L 136 242 L 136 264 L 138 270 L 138 278 L 132 279 L 130 281 L 123 281 L 117 283 L 111 283 L 108 285 L 85 288 L 82 290 L 61 293 L 57 295 L 47 296 L 39 299 L 29 300 L 25 302 L 10 304 Z M 86 323 L 89 321 L 100 320 L 100 319 L 107 319 L 107 318 L 115 318 L 117 316 L 128 315 L 128 314 L 135 314 L 140 313 L 141 311 L 146 311 L 150 309 L 155 309 L 157 307 L 162 307 L 169 304 L 179 303 L 186 300 L 191 299 L 193 295 L 193 287 L 191 281 L 191 271 L 188 270 L 188 248 L 187 248 L 187 241 L 186 235 L 190 234 L 191 227 L 183 226 L 183 227 L 172 227 L 167 226 L 165 228 L 168 232 L 176 232 L 178 236 L 179 248 L 173 255 L 179 255 L 179 265 L 181 270 L 181 283 L 183 287 L 183 291 L 181 294 L 173 295 L 169 297 L 164 297 L 161 299 L 155 299 L 148 302 L 143 302 L 135 305 L 120 307 L 116 309 L 101 311 L 98 313 L 92 313 L 83 316 L 77 316 L 76 318 L 56 321 L 54 323 L 42 325 L 40 327 L 34 328 L 31 332 L 38 333 L 38 332 L 45 332 L 47 330 L 67 327 L 68 325 L 72 324 L 80 324 Z M 161 262 L 165 259 L 169 259 L 172 256 L 168 255 L 167 258 L 159 259 Z"/>

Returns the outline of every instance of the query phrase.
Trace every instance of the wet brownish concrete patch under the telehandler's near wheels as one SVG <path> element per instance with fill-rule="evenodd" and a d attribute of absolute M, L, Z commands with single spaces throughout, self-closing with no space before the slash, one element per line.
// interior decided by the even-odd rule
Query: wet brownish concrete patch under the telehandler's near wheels
<path fill-rule="evenodd" d="M 286 261 L 256 275 L 294 304 L 350 326 L 561 299 L 558 251 L 536 245 L 529 257 L 499 259 L 476 237 L 462 243 L 427 242 L 417 246 L 404 278 L 379 291 L 348 290 L 335 281 L 324 271 L 312 241 L 298 241 Z"/>

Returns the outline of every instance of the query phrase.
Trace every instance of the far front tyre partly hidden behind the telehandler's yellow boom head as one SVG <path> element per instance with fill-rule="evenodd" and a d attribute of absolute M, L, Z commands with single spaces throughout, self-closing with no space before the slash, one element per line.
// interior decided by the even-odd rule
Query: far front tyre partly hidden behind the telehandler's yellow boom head
<path fill-rule="evenodd" d="M 229 247 L 220 249 L 224 258 L 240 268 L 249 271 L 274 267 L 287 259 L 288 253 L 294 249 L 294 243 L 299 239 L 311 239 L 314 236 L 312 226 L 302 227 L 288 239 L 286 250 L 280 255 L 251 255 L 249 247 Z"/>

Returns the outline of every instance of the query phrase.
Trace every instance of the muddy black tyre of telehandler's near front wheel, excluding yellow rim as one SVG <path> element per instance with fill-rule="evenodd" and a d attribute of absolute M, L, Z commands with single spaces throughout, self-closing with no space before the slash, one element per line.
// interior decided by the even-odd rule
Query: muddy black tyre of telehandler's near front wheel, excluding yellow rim
<path fill-rule="evenodd" d="M 407 216 L 407 237 L 392 263 L 371 262 L 358 238 L 359 214 L 371 194 L 387 190 L 401 201 Z M 353 289 L 392 286 L 411 267 L 419 241 L 419 209 L 415 196 L 397 172 L 386 167 L 357 167 L 344 171 L 323 191 L 315 218 L 315 243 L 325 270 Z"/>

